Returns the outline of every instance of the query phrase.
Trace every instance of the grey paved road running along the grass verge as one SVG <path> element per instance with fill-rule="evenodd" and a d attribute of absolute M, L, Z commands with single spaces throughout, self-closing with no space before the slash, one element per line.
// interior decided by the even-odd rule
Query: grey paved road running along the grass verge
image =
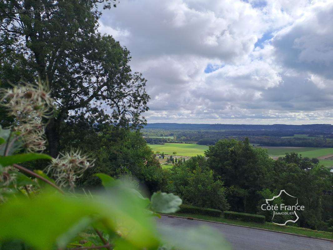
<path fill-rule="evenodd" d="M 252 228 L 162 216 L 159 223 L 171 227 L 209 225 L 221 232 L 235 250 L 332 250 L 333 242 L 281 234 Z"/>

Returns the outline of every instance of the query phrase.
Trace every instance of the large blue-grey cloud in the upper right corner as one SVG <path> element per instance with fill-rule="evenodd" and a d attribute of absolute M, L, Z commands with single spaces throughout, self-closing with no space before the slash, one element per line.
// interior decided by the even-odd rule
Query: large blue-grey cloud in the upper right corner
<path fill-rule="evenodd" d="M 316 3 L 291 26 L 280 30 L 273 46 L 288 68 L 333 78 L 333 2 Z"/>

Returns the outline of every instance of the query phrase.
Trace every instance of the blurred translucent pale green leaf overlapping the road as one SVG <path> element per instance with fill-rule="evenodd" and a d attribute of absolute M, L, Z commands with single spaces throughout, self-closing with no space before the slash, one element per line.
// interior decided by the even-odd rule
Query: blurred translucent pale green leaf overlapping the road
<path fill-rule="evenodd" d="M 193 228 L 160 227 L 162 241 L 167 247 L 182 250 L 231 250 L 223 236 L 207 226 Z M 172 248 L 172 249 L 174 249 Z"/>

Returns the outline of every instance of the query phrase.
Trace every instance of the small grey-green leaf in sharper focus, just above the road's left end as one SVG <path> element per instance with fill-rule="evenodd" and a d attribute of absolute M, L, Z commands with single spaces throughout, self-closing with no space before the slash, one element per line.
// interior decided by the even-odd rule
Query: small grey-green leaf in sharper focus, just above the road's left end
<path fill-rule="evenodd" d="M 150 208 L 158 213 L 174 213 L 179 210 L 181 203 L 178 196 L 159 191 L 152 195 Z"/>

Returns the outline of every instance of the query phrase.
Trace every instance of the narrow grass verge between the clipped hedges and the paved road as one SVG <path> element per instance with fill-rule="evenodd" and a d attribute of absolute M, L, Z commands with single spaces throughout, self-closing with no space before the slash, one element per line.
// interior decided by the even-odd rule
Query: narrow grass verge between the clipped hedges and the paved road
<path fill-rule="evenodd" d="M 255 222 L 229 220 L 229 219 L 225 219 L 222 217 L 212 217 L 212 216 L 206 216 L 206 215 L 200 215 L 200 214 L 176 213 L 174 215 L 182 216 L 182 217 L 192 217 L 192 218 L 201 219 L 201 220 L 224 222 L 224 223 L 234 224 L 234 225 L 263 228 L 263 229 L 269 229 L 269 230 L 286 232 L 286 233 L 312 236 L 312 237 L 317 237 L 317 238 L 333 239 L 332 232 L 316 231 L 316 230 L 311 230 L 308 228 L 301 228 L 301 227 L 294 227 L 294 226 L 279 226 L 279 225 L 276 225 L 276 224 L 270 223 L 270 222 L 265 222 L 264 224 L 261 224 L 261 223 L 255 223 Z"/>

